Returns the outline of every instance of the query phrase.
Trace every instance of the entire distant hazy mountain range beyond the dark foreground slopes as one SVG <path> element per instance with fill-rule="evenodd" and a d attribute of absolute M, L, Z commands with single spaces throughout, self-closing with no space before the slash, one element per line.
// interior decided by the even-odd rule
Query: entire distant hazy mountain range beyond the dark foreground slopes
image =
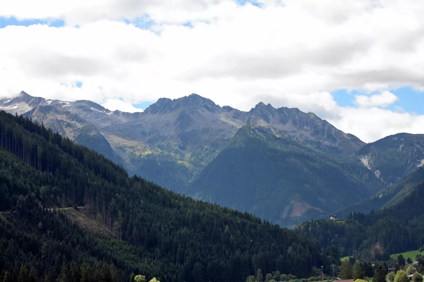
<path fill-rule="evenodd" d="M 130 174 L 283 225 L 346 213 L 424 164 L 424 135 L 365 144 L 314 113 L 262 102 L 246 112 L 191 94 L 125 113 L 22 91 L 0 109 L 43 122 Z"/>

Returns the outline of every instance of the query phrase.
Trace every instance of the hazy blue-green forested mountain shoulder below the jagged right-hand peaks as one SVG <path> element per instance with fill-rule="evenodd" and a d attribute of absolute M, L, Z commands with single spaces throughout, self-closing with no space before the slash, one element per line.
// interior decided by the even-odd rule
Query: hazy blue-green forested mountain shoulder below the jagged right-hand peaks
<path fill-rule="evenodd" d="M 189 194 L 285 225 L 351 205 L 383 185 L 353 155 L 323 152 L 272 128 L 246 125 Z"/>

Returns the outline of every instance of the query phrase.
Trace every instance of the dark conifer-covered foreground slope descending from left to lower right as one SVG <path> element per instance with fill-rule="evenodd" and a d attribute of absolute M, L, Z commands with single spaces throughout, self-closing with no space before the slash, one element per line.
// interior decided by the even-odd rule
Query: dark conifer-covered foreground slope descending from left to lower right
<path fill-rule="evenodd" d="M 243 281 L 258 268 L 307 277 L 312 265 L 330 263 L 318 244 L 292 230 L 128 177 L 122 166 L 28 118 L 0 111 L 0 139 L 1 224 L 9 229 L 0 253 L 10 254 L 0 273 L 24 263 L 57 275 L 63 261 L 74 260 L 114 263 L 162 282 L 218 282 Z M 116 238 L 84 235 L 46 209 L 73 205 L 85 206 Z M 46 260 L 44 242 L 59 248 Z"/>

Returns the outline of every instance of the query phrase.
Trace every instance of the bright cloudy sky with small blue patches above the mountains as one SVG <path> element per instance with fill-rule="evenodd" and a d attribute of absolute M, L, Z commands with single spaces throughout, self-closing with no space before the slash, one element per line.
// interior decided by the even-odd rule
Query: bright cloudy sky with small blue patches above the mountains
<path fill-rule="evenodd" d="M 0 97 L 142 111 L 191 93 L 314 112 L 372 142 L 424 133 L 422 0 L 0 2 Z"/>

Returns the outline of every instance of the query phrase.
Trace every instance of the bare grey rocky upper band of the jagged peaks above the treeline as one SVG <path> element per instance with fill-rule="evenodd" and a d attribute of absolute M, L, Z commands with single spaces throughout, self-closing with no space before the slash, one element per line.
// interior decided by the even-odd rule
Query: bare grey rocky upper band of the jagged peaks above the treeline
<path fill-rule="evenodd" d="M 25 113 L 70 138 L 76 138 L 85 124 L 92 124 L 106 139 L 111 136 L 184 152 L 204 145 L 225 146 L 245 124 L 271 127 L 299 141 L 319 141 L 341 152 L 350 153 L 364 145 L 354 135 L 343 133 L 314 113 L 304 113 L 297 108 L 276 109 L 262 102 L 243 112 L 229 106 L 220 107 L 197 94 L 174 100 L 160 98 L 142 113 L 124 113 L 109 111 L 88 100 L 47 100 L 22 91 L 18 97 L 0 100 L 0 109 Z"/>

